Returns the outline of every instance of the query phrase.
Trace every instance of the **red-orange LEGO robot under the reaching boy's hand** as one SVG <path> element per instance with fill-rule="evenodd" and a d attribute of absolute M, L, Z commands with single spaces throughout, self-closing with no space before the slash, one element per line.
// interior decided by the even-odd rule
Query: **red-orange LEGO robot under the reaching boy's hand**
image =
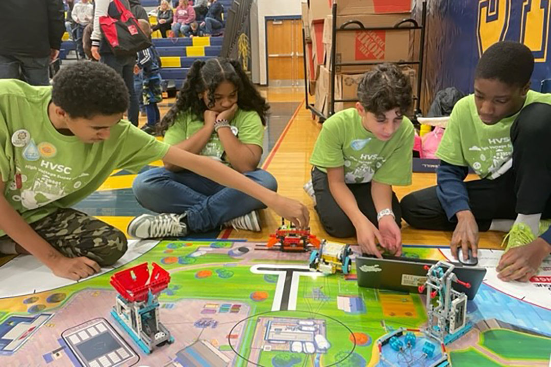
<path fill-rule="evenodd" d="M 299 230 L 292 223 L 286 225 L 285 219 L 282 219 L 282 225 L 274 235 L 270 235 L 266 247 L 284 252 L 307 252 L 312 247 L 319 248 L 320 240 L 310 234 L 309 228 Z"/>

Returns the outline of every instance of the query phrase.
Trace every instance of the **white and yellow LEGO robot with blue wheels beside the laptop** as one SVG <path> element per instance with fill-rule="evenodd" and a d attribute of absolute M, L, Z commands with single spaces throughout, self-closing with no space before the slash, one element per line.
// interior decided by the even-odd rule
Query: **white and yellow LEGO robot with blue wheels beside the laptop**
<path fill-rule="evenodd" d="M 337 271 L 349 274 L 352 270 L 351 254 L 349 244 L 328 243 L 323 240 L 320 248 L 310 253 L 310 270 L 325 274 L 335 274 Z"/>

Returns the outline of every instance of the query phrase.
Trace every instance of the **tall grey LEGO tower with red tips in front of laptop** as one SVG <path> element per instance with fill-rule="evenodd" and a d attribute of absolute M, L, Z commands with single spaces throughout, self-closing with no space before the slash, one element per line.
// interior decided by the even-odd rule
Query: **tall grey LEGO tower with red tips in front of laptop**
<path fill-rule="evenodd" d="M 471 284 L 457 279 L 450 263 L 439 261 L 428 270 L 425 284 L 419 286 L 419 293 L 426 290 L 426 312 L 428 326 L 425 334 L 440 343 L 449 344 L 468 332 L 472 325 L 467 323 L 467 296 L 452 288 L 452 282 L 470 288 Z M 434 302 L 436 301 L 436 302 Z"/>

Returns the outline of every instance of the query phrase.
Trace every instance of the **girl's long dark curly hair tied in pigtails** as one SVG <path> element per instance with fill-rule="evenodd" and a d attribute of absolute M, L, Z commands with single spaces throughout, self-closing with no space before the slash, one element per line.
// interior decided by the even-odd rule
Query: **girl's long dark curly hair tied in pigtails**
<path fill-rule="evenodd" d="M 245 111 L 256 111 L 262 125 L 266 125 L 269 105 L 258 93 L 249 76 L 245 74 L 239 61 L 213 58 L 206 62 L 202 60 L 193 62 L 176 103 L 160 121 L 159 132 L 164 132 L 172 126 L 176 116 L 182 112 L 191 112 L 202 119 L 203 113 L 214 107 L 214 92 L 224 81 L 229 81 L 237 87 L 237 106 Z M 208 92 L 208 105 L 201 97 L 205 91 Z"/>

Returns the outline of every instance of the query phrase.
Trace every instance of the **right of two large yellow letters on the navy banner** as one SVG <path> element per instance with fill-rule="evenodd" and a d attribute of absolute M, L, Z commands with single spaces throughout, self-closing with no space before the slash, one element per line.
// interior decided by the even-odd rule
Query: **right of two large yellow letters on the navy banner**
<path fill-rule="evenodd" d="M 551 0 L 524 0 L 522 4 L 520 42 L 534 52 L 534 58 L 539 63 L 547 59 L 549 14 Z"/>

